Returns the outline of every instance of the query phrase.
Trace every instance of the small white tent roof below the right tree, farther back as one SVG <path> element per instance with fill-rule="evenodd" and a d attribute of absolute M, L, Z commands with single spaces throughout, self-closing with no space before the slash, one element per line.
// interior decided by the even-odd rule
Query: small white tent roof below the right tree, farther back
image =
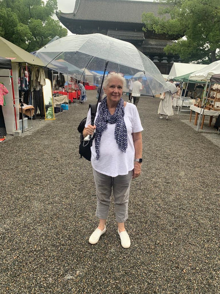
<path fill-rule="evenodd" d="M 192 73 L 206 67 L 206 64 L 192 64 L 192 63 L 179 63 L 174 62 L 170 73 L 168 74 L 168 79 L 173 79 L 176 76 L 183 75 L 186 73 Z"/>

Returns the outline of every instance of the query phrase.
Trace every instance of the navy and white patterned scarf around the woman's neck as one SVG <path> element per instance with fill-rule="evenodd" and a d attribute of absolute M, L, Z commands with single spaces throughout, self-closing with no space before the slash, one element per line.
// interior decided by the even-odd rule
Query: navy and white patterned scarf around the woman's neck
<path fill-rule="evenodd" d="M 116 106 L 115 112 L 113 115 L 110 114 L 108 105 L 107 105 L 107 98 L 105 97 L 101 104 L 99 105 L 99 113 L 96 119 L 96 134 L 95 134 L 95 152 L 96 152 L 96 159 L 99 159 L 99 147 L 102 133 L 107 129 L 107 124 L 115 123 L 114 129 L 114 139 L 118 145 L 118 148 L 122 152 L 126 152 L 128 148 L 128 133 L 127 128 L 124 121 L 125 115 L 125 107 L 124 107 L 124 100 L 120 98 L 118 104 Z"/>

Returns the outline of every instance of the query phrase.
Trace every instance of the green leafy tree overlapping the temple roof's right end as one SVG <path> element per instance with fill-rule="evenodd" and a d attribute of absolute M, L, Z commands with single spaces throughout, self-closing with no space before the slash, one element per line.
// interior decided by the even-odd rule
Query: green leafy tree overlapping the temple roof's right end
<path fill-rule="evenodd" d="M 210 63 L 220 58 L 219 0 L 161 0 L 160 17 L 142 16 L 144 30 L 165 34 L 175 40 L 164 48 L 166 54 L 178 54 L 184 62 Z M 170 19 L 167 20 L 167 13 Z M 183 38 L 182 38 L 183 37 Z"/>

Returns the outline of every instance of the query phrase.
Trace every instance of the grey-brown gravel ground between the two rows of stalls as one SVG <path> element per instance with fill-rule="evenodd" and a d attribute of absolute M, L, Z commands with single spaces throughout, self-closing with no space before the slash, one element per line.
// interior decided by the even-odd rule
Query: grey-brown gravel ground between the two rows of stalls
<path fill-rule="evenodd" d="M 189 113 L 160 120 L 159 99 L 142 97 L 132 245 L 120 245 L 113 205 L 106 234 L 90 245 L 96 196 L 77 131 L 96 100 L 87 92 L 85 104 L 0 144 L 0 294 L 219 294 L 217 131 L 196 132 Z"/>

